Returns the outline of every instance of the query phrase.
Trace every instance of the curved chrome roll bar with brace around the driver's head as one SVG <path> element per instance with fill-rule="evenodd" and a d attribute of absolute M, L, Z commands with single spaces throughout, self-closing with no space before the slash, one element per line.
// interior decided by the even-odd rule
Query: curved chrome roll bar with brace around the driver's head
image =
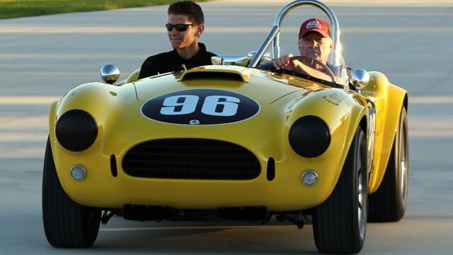
<path fill-rule="evenodd" d="M 337 17 L 335 16 L 335 13 L 331 10 L 331 8 L 328 8 L 326 4 L 321 3 L 320 1 L 316 0 L 296 0 L 293 1 L 292 3 L 287 4 L 287 6 L 283 7 L 282 10 L 277 14 L 277 17 L 275 17 L 274 21 L 274 26 L 272 30 L 270 30 L 270 33 L 268 37 L 264 40 L 263 44 L 261 45 L 260 49 L 256 53 L 256 55 L 253 57 L 251 60 L 250 64 L 248 64 L 248 67 L 256 67 L 258 65 L 258 62 L 260 61 L 261 57 L 263 56 L 265 50 L 269 47 L 270 43 L 273 42 L 273 57 L 276 59 L 277 57 L 280 57 L 280 25 L 282 23 L 283 18 L 291 11 L 293 8 L 296 8 L 298 6 L 314 6 L 316 8 L 319 8 L 321 11 L 326 13 L 328 18 L 331 21 L 331 38 L 333 40 L 333 49 L 331 52 L 331 60 L 332 64 L 335 66 L 340 65 L 340 27 L 338 26 L 338 20 Z"/>

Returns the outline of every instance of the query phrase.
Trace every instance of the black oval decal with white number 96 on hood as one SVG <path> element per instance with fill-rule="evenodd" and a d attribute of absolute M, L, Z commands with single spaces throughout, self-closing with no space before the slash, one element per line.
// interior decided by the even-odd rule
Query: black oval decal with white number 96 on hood
<path fill-rule="evenodd" d="M 252 118 L 260 111 L 248 96 L 219 89 L 177 91 L 143 104 L 142 114 L 151 120 L 180 125 L 219 125 Z"/>

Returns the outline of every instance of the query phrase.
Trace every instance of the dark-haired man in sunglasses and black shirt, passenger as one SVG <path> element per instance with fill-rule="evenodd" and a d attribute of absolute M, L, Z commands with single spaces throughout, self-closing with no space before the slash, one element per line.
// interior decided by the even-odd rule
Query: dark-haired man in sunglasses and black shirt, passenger
<path fill-rule="evenodd" d="M 205 30 L 201 7 L 192 1 L 178 1 L 168 6 L 168 23 L 165 25 L 173 50 L 148 57 L 140 69 L 139 78 L 166 72 L 176 72 L 211 64 L 212 52 L 207 52 L 198 38 Z"/>

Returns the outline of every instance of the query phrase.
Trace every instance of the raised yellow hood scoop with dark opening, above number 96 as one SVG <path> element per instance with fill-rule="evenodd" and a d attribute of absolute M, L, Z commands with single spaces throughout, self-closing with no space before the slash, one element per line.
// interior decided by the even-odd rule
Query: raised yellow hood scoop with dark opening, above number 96
<path fill-rule="evenodd" d="M 253 71 L 245 67 L 236 66 L 205 66 L 187 70 L 181 74 L 179 81 L 193 79 L 222 79 L 229 81 L 248 82 Z"/>

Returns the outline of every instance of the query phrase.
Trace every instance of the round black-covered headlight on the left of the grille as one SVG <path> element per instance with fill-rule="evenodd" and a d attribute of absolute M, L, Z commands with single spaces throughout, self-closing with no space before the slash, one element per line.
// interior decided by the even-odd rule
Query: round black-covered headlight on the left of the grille
<path fill-rule="evenodd" d="M 98 136 L 98 125 L 86 111 L 71 110 L 58 119 L 55 134 L 65 149 L 81 152 L 93 145 Z"/>

